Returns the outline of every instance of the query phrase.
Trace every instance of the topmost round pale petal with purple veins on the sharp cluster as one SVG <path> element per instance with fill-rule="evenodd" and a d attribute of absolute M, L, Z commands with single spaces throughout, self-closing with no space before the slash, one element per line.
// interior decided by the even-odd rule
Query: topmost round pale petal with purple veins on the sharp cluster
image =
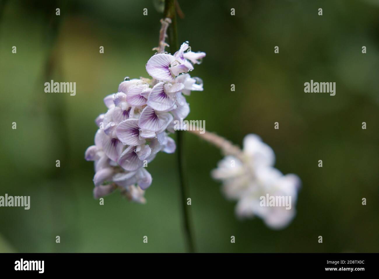
<path fill-rule="evenodd" d="M 157 80 L 174 81 L 170 66 L 174 63 L 175 57 L 170 54 L 155 54 L 146 64 L 146 71 Z"/>

